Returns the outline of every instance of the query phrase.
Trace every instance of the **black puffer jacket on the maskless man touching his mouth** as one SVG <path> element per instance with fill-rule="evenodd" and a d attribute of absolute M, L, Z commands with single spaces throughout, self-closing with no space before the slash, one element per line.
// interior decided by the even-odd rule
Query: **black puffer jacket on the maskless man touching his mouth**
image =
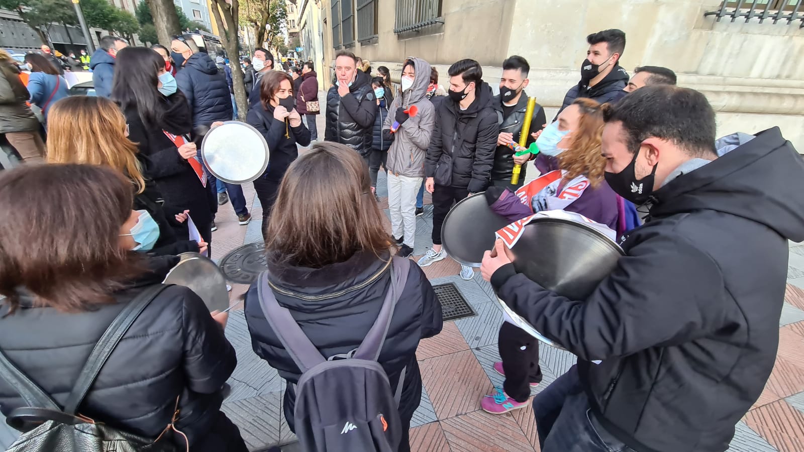
<path fill-rule="evenodd" d="M 324 139 L 351 147 L 366 157 L 371 153 L 374 141 L 374 118 L 377 100 L 371 80 L 362 71 L 357 71 L 355 83 L 349 93 L 341 97 L 338 87 L 326 93 L 326 127 Z"/>

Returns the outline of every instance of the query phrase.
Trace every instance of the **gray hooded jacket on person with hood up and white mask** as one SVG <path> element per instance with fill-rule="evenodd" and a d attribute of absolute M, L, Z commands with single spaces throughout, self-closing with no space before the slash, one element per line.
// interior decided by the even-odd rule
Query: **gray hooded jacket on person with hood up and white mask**
<path fill-rule="evenodd" d="M 396 109 L 406 110 L 412 105 L 416 105 L 418 112 L 416 116 L 409 117 L 408 121 L 404 121 L 396 130 L 394 142 L 391 149 L 388 150 L 386 167 L 395 175 L 424 177 L 425 154 L 430 146 L 433 127 L 436 125 L 436 110 L 433 108 L 433 103 L 427 98 L 430 64 L 420 58 L 412 60 L 413 68 L 416 70 L 413 86 L 394 98 L 391 107 L 388 108 L 388 118 L 383 125 L 383 131 L 391 129 L 391 125 L 395 121 Z"/>

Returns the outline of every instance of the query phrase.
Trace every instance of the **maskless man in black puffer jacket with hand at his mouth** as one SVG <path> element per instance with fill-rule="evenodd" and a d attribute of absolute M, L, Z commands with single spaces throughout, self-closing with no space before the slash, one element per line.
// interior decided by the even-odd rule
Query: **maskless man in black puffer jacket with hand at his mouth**
<path fill-rule="evenodd" d="M 355 54 L 338 51 L 334 86 L 326 93 L 324 139 L 351 147 L 363 158 L 371 154 L 377 102 L 371 80 L 359 71 Z"/>

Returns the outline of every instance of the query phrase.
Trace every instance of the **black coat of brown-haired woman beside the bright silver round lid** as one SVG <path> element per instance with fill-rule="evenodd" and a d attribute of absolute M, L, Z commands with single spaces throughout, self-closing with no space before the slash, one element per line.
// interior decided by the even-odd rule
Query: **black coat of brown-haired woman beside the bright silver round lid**
<path fill-rule="evenodd" d="M 268 110 L 264 109 L 262 105 L 249 109 L 246 122 L 259 130 L 260 134 L 265 137 L 265 141 L 268 142 L 270 153 L 268 169 L 265 170 L 265 175 L 262 177 L 277 182 L 281 181 L 285 176 L 285 171 L 288 171 L 288 166 L 299 155 L 296 145 L 310 146 L 310 130 L 305 127 L 304 121 L 297 127 L 290 127 L 289 123 L 285 121 L 277 121 L 273 117 L 273 106 L 270 104 Z M 285 137 L 285 134 L 289 138 Z"/>

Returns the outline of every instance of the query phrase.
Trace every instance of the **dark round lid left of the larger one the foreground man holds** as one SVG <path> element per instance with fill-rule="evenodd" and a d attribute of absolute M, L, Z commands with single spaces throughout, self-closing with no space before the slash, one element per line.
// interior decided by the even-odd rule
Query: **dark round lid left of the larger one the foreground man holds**
<path fill-rule="evenodd" d="M 479 267 L 483 253 L 494 248 L 494 233 L 510 223 L 491 210 L 486 195 L 477 193 L 449 210 L 441 226 L 441 245 L 454 260 Z"/>

